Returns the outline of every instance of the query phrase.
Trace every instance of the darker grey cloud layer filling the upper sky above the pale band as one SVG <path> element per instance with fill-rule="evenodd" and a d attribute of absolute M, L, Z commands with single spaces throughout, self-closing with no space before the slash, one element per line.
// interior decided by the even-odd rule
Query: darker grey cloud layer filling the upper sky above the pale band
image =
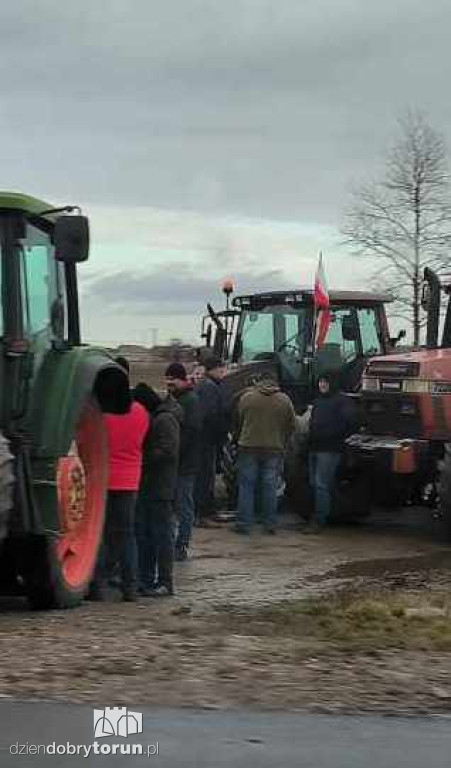
<path fill-rule="evenodd" d="M 407 104 L 451 135 L 445 0 L 15 0 L 4 186 L 335 226 Z"/>

